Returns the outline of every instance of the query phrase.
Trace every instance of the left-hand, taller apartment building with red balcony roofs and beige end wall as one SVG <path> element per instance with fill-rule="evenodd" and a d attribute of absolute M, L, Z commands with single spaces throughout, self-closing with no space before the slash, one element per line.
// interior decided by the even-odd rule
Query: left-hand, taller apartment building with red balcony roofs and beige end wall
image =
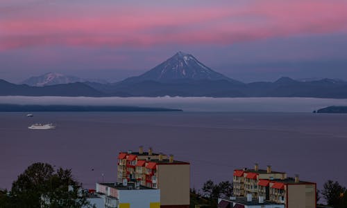
<path fill-rule="evenodd" d="M 117 180 L 127 180 L 151 189 L 160 189 L 160 207 L 189 207 L 190 164 L 174 160 L 174 155 L 132 151 L 118 155 Z"/>

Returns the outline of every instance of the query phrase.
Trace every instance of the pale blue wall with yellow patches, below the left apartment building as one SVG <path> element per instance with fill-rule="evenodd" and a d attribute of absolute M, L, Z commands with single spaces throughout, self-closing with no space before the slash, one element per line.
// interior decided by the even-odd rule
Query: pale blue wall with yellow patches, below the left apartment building
<path fill-rule="evenodd" d="M 159 189 L 118 190 L 119 208 L 159 208 Z"/>

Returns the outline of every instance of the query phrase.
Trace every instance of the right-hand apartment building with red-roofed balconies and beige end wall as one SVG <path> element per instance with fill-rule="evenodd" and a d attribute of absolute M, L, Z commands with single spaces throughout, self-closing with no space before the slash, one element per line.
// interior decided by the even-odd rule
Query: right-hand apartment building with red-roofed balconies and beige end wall
<path fill-rule="evenodd" d="M 283 172 L 266 170 L 237 169 L 233 174 L 234 195 L 237 198 L 262 198 L 268 202 L 285 205 L 285 208 L 316 207 L 316 183 L 287 178 Z"/>

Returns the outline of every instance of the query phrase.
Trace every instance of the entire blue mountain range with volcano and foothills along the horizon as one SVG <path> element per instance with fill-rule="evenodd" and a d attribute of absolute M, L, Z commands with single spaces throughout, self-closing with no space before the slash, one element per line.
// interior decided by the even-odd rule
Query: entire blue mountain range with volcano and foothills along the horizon
<path fill-rule="evenodd" d="M 0 79 L 0 95 L 89 97 L 326 97 L 347 98 L 347 82 L 340 79 L 294 80 L 245 84 L 217 73 L 193 55 L 178 52 L 153 69 L 121 82 L 90 82 L 59 73 L 31 77 L 21 84 Z"/>

